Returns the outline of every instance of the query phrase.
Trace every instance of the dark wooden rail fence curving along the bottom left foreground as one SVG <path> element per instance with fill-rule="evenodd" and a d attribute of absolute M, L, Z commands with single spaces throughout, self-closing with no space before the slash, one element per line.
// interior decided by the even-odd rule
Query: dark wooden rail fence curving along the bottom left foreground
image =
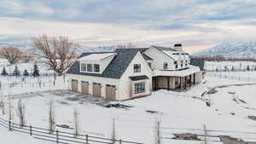
<path fill-rule="evenodd" d="M 11 121 L 0 118 L 0 127 L 6 128 L 9 131 L 17 131 L 20 133 L 25 133 L 27 135 L 32 135 L 34 138 L 44 140 L 44 141 L 53 141 L 56 143 L 69 144 L 69 143 L 80 143 L 80 144 L 94 144 L 94 143 L 104 143 L 104 144 L 113 144 L 112 141 L 116 141 L 115 144 L 143 144 L 140 142 L 134 141 L 123 141 L 123 140 L 113 140 L 104 137 L 97 137 L 92 135 L 74 135 L 73 133 L 53 130 L 52 133 L 49 133 L 50 130 L 33 127 L 32 125 L 27 126 L 20 124 L 15 124 Z"/>

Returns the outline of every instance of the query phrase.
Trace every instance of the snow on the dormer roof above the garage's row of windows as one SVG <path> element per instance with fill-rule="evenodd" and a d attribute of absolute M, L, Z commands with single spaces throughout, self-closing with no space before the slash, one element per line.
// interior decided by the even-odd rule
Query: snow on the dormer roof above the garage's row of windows
<path fill-rule="evenodd" d="M 80 58 L 79 60 L 90 60 L 90 61 L 98 61 L 103 60 L 109 56 L 117 55 L 116 53 L 102 53 L 102 54 L 90 54 Z"/>

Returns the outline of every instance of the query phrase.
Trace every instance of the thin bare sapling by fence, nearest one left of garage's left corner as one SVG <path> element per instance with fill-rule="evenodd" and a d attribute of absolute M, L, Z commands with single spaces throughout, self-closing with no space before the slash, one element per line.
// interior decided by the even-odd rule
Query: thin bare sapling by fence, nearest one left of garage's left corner
<path fill-rule="evenodd" d="M 49 133 L 55 130 L 55 105 L 53 101 L 49 102 Z"/>

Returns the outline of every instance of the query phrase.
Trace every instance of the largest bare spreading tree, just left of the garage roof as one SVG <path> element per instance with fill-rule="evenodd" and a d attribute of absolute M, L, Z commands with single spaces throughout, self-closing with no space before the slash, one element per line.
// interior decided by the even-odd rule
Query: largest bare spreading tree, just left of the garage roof
<path fill-rule="evenodd" d="M 32 39 L 39 50 L 40 59 L 50 69 L 62 75 L 76 60 L 76 47 L 79 45 L 69 41 L 68 37 L 48 37 L 47 35 Z"/>

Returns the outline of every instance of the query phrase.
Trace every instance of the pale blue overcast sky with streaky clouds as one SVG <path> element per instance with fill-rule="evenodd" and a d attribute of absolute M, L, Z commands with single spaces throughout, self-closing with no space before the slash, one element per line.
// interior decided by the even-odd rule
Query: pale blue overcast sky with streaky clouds
<path fill-rule="evenodd" d="M 256 37 L 256 0 L 0 0 L 0 42 L 64 35 L 88 46 L 134 43 L 188 52 Z"/>

